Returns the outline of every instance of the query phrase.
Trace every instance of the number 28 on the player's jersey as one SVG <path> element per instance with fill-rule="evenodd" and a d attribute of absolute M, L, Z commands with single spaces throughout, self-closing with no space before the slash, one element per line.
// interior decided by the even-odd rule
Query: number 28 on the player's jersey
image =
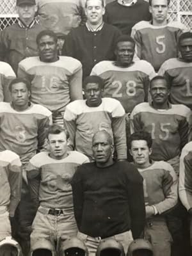
<path fill-rule="evenodd" d="M 113 86 L 115 86 L 115 92 L 113 92 L 112 97 L 114 98 L 121 98 L 123 97 L 123 93 L 120 92 L 122 89 L 122 83 L 120 81 L 113 81 Z M 126 83 L 126 93 L 128 96 L 136 95 L 136 82 L 131 80 Z"/>

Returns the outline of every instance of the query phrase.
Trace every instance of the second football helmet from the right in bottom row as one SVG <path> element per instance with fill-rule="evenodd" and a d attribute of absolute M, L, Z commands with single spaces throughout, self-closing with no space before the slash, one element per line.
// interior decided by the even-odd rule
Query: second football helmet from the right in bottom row
<path fill-rule="evenodd" d="M 96 256 L 125 256 L 124 247 L 113 238 L 104 239 L 100 242 Z"/>

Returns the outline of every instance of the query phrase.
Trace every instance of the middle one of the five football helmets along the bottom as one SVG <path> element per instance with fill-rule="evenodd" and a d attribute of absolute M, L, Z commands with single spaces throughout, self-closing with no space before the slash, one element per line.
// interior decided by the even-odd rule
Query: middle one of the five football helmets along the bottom
<path fill-rule="evenodd" d="M 88 250 L 83 241 L 71 237 L 61 244 L 60 256 L 88 256 Z"/>

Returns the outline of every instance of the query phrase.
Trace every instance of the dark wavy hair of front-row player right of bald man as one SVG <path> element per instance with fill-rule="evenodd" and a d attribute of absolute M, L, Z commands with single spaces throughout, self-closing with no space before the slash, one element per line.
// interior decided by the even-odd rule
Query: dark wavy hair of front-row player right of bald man
<path fill-rule="evenodd" d="M 145 132 L 143 130 L 134 132 L 129 136 L 128 141 L 127 141 L 129 149 L 131 149 L 131 143 L 134 140 L 145 140 L 145 141 L 147 141 L 148 148 L 152 147 L 152 138 L 151 138 L 150 133 Z"/>

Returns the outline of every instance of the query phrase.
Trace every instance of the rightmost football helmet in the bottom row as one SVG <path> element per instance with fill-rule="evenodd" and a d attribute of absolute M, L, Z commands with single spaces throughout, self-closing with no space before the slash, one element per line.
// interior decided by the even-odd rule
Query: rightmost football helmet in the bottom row
<path fill-rule="evenodd" d="M 149 241 L 147 241 L 146 239 L 139 238 L 131 242 L 127 251 L 127 256 L 134 256 L 134 252 L 138 252 L 141 250 L 145 252 L 145 255 L 154 255 L 152 250 L 152 244 L 150 244 Z M 146 254 L 146 252 L 148 253 Z"/>

